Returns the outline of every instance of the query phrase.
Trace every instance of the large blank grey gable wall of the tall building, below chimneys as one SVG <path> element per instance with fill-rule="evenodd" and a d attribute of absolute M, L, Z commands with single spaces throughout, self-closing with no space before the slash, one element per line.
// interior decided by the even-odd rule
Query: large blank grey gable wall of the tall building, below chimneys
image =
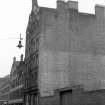
<path fill-rule="evenodd" d="M 61 13 L 44 9 L 42 20 L 41 96 L 54 95 L 56 89 L 78 84 L 86 90 L 101 89 L 99 82 L 105 80 L 104 18 L 71 9 Z"/>

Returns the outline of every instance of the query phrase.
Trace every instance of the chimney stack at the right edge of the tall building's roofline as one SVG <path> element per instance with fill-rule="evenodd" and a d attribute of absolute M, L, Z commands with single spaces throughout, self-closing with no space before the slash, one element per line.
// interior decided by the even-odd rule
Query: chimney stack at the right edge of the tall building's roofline
<path fill-rule="evenodd" d="M 96 18 L 102 19 L 105 18 L 105 5 L 95 5 L 95 15 Z"/>

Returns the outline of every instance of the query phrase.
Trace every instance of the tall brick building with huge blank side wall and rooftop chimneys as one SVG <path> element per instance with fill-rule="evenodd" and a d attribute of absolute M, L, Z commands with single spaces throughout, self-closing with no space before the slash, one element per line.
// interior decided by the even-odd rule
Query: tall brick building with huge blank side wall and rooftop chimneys
<path fill-rule="evenodd" d="M 58 0 L 57 8 L 52 9 L 39 7 L 37 0 L 32 0 L 25 63 L 26 105 L 76 105 L 83 102 L 81 100 L 94 105 L 102 102 L 105 7 L 96 5 L 95 14 L 88 14 L 78 11 L 76 1 Z M 92 98 L 86 100 L 84 94 Z"/>

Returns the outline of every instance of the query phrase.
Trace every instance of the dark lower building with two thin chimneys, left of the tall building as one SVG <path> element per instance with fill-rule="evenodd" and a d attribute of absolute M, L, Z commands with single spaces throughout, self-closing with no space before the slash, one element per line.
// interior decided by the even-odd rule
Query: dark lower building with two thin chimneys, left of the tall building
<path fill-rule="evenodd" d="M 23 55 L 21 60 L 14 62 L 10 73 L 9 105 L 23 105 L 23 70 L 25 69 Z"/>

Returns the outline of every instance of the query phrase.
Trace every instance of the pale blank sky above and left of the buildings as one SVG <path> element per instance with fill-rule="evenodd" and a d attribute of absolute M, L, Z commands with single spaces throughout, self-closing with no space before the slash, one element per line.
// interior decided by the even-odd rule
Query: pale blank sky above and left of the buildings
<path fill-rule="evenodd" d="M 67 0 L 66 0 L 67 1 Z M 75 0 L 77 1 L 77 0 Z M 105 5 L 105 0 L 78 0 L 79 10 L 94 13 L 94 4 Z M 38 0 L 40 6 L 56 7 L 56 0 Z M 20 59 L 25 49 L 25 31 L 31 11 L 31 0 L 0 0 L 0 77 L 10 73 L 13 57 Z M 18 44 L 22 34 L 24 48 Z"/>

